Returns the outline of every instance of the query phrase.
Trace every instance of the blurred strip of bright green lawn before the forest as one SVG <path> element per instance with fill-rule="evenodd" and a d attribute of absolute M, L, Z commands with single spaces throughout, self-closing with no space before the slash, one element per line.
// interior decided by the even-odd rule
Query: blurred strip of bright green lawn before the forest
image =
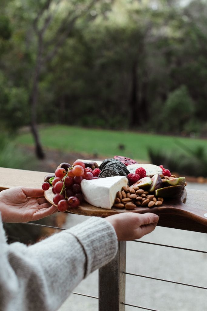
<path fill-rule="evenodd" d="M 182 142 L 194 150 L 196 146 L 203 146 L 207 153 L 207 141 L 185 137 L 152 135 L 129 131 L 110 131 L 101 129 L 80 128 L 75 126 L 54 125 L 39 129 L 40 139 L 44 147 L 61 151 L 97 154 L 98 157 L 113 157 L 121 155 L 135 160 L 149 161 L 148 147 L 174 153 L 183 153 L 176 144 Z M 21 134 L 16 141 L 24 145 L 33 145 L 30 133 Z M 119 145 L 125 149 L 120 151 Z"/>

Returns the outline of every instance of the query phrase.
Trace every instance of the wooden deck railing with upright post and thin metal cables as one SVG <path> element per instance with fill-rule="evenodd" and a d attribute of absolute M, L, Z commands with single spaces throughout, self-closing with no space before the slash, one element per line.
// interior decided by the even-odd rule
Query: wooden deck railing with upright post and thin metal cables
<path fill-rule="evenodd" d="M 40 187 L 43 178 L 47 173 L 45 172 L 36 172 L 36 171 L 27 171 L 27 170 L 19 170 L 19 169 L 8 169 L 8 168 L 0 168 L 0 191 L 3 189 L 11 188 L 14 186 L 26 186 L 26 187 Z M 199 204 L 200 207 L 203 206 L 204 213 L 207 213 L 207 191 L 199 191 L 199 190 L 187 190 L 187 201 L 191 202 L 191 206 L 195 206 Z M 28 225 L 28 224 L 25 224 Z M 33 225 L 29 223 L 29 225 Z M 34 224 L 39 225 L 39 224 Z M 39 225 L 42 226 L 42 225 Z M 54 229 L 63 229 L 57 228 L 55 226 L 47 226 L 46 227 L 54 228 Z M 176 215 L 160 215 L 160 220 L 158 226 L 182 229 L 188 231 L 195 231 L 201 233 L 207 233 L 207 226 L 204 224 L 200 224 L 192 219 L 186 219 L 182 216 Z M 207 254 L 206 251 L 189 249 L 189 248 L 181 248 L 170 245 L 158 244 L 158 243 L 150 243 L 143 241 L 134 241 L 138 243 L 148 243 L 152 245 L 158 245 L 162 247 L 170 247 L 183 249 L 186 251 L 192 252 L 201 252 Z M 206 272 L 204 272 L 206 273 Z M 125 306 L 131 306 L 134 308 L 145 309 L 145 310 L 154 310 L 152 308 L 141 307 L 134 304 L 126 303 L 125 301 L 125 278 L 126 275 L 133 275 L 136 277 L 144 277 L 148 279 L 180 284 L 184 286 L 190 286 L 200 289 L 207 289 L 205 286 L 187 284 L 185 282 L 176 282 L 166 279 L 154 278 L 151 276 L 138 275 L 135 273 L 126 272 L 126 242 L 119 242 L 118 253 L 114 260 L 112 260 L 109 264 L 99 269 L 99 297 L 92 297 L 99 299 L 99 311 L 124 311 Z M 79 293 L 74 293 L 78 295 L 84 295 Z M 88 296 L 88 295 L 86 295 Z M 91 296 L 89 296 L 91 297 Z M 178 310 L 176 307 L 174 310 Z M 87 310 L 89 311 L 89 310 Z M 163 311 L 163 310 L 162 310 Z M 197 311 L 197 310 L 196 310 Z M 200 310 L 198 310 L 200 311 Z"/>

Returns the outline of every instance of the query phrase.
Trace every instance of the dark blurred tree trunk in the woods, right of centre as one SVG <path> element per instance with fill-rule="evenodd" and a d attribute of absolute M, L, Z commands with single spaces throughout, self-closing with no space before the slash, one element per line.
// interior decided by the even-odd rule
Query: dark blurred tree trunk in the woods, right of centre
<path fill-rule="evenodd" d="M 129 100 L 130 107 L 130 127 L 135 127 L 139 123 L 138 120 L 138 84 L 137 84 L 137 61 L 134 61 L 132 64 L 132 90 L 131 90 L 131 98 Z"/>

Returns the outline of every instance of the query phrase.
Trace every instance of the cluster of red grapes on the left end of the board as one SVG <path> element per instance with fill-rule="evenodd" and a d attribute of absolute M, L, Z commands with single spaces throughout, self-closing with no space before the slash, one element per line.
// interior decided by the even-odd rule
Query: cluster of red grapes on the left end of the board
<path fill-rule="evenodd" d="M 45 176 L 42 188 L 48 190 L 52 185 L 53 202 L 59 211 L 64 212 L 68 208 L 78 207 L 83 201 L 81 181 L 97 178 L 93 176 L 90 167 L 85 167 L 82 161 L 76 160 L 72 166 L 69 163 L 61 163 L 55 174 Z"/>

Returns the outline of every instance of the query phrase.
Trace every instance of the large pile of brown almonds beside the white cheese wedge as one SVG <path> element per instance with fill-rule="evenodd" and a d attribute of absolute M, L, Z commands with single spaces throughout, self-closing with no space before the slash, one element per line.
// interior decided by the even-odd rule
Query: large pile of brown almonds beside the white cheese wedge
<path fill-rule="evenodd" d="M 156 198 L 148 191 L 139 189 L 138 186 L 122 187 L 118 191 L 115 198 L 115 208 L 125 208 L 126 210 L 133 210 L 135 207 L 157 207 L 162 205 L 163 198 Z"/>

